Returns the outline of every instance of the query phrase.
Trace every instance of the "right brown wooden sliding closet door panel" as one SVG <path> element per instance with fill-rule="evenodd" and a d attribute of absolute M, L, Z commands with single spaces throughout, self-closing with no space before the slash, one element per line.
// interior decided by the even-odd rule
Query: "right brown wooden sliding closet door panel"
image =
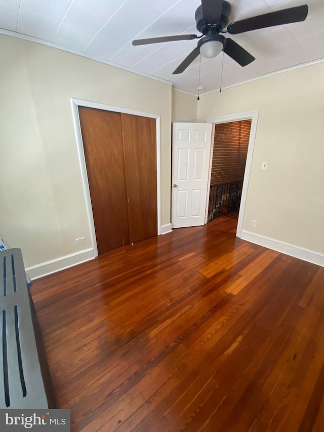
<path fill-rule="evenodd" d="M 121 113 L 130 241 L 157 235 L 156 120 Z"/>

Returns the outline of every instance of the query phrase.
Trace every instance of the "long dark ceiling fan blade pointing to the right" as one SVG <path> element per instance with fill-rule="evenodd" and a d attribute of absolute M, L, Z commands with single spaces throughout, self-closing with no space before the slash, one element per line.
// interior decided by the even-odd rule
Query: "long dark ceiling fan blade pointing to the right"
<path fill-rule="evenodd" d="M 282 9 L 281 11 L 270 12 L 268 14 L 258 15 L 257 17 L 232 22 L 227 27 L 227 31 L 230 34 L 238 34 L 244 31 L 272 27 L 274 25 L 305 21 L 307 14 L 307 5 L 296 6 L 295 8 Z"/>

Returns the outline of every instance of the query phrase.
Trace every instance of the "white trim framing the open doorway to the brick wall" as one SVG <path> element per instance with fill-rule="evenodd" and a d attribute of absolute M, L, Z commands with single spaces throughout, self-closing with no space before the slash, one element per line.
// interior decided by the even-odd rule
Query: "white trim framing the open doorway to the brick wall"
<path fill-rule="evenodd" d="M 245 206 L 247 202 L 247 194 L 248 194 L 251 165 L 252 165 L 252 156 L 253 156 L 255 137 L 257 132 L 258 116 L 259 116 L 259 110 L 256 109 L 254 111 L 237 112 L 236 114 L 220 115 L 218 117 L 211 117 L 210 119 L 207 119 L 207 123 L 214 123 L 215 125 L 219 123 L 237 122 L 240 120 L 252 120 L 247 162 L 245 166 L 244 180 L 242 186 L 241 203 L 239 206 L 237 229 L 236 229 L 236 236 L 239 238 L 241 237 Z M 212 157 L 213 155 L 211 154 L 211 158 Z M 210 176 L 211 176 L 211 172 L 210 172 Z"/>

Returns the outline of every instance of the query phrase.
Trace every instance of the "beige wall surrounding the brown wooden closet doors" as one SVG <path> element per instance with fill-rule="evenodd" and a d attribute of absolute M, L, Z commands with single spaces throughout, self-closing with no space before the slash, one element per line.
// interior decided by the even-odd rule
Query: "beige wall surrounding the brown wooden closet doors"
<path fill-rule="evenodd" d="M 91 247 L 70 98 L 160 115 L 161 224 L 170 223 L 169 84 L 5 35 L 0 58 L 0 233 L 26 266 Z"/>

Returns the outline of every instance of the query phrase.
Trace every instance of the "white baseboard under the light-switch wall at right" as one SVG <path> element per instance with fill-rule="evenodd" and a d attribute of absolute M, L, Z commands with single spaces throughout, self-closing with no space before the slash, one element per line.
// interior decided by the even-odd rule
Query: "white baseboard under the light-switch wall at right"
<path fill-rule="evenodd" d="M 324 254 L 319 252 L 314 252 L 290 243 L 281 242 L 280 240 L 270 239 L 269 237 L 265 237 L 265 235 L 255 234 L 243 229 L 241 230 L 240 238 L 255 243 L 256 245 L 264 246 L 268 249 L 324 267 Z"/>

